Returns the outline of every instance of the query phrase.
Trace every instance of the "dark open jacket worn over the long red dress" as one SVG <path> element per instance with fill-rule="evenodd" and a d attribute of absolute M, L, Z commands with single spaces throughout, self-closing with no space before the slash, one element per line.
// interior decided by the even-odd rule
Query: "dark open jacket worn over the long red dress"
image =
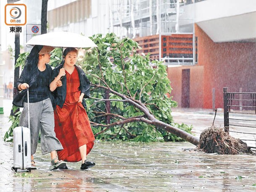
<path fill-rule="evenodd" d="M 85 75 L 82 68 L 80 68 L 76 65 L 75 65 L 75 67 L 77 68 L 78 75 L 79 75 L 79 81 L 80 81 L 79 90 L 81 90 L 81 93 L 84 93 L 84 98 L 89 98 L 90 97 L 90 87 L 91 87 L 90 81 L 87 78 L 87 76 Z M 56 76 L 58 76 L 61 68 L 63 68 L 63 64 L 61 64 L 60 66 L 53 69 L 53 75 L 52 75 L 52 79 L 51 79 L 52 81 L 54 80 L 54 78 Z M 61 79 L 61 82 L 62 82 L 62 86 L 57 87 L 55 89 L 54 96 L 55 96 L 55 105 L 59 105 L 62 108 L 63 104 L 66 100 L 66 90 L 67 90 L 66 76 L 63 76 L 63 78 Z M 84 99 L 82 101 L 82 105 L 86 109 L 86 104 L 85 104 Z"/>

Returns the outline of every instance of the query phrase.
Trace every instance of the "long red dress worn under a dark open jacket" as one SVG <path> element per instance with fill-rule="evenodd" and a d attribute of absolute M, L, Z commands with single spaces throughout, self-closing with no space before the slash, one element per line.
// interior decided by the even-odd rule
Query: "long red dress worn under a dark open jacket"
<path fill-rule="evenodd" d="M 66 100 L 61 108 L 54 110 L 55 133 L 60 140 L 63 150 L 57 151 L 58 159 L 66 162 L 82 160 L 79 147 L 87 145 L 87 154 L 94 145 L 94 135 L 87 113 L 79 103 L 81 91 L 79 90 L 79 75 L 75 68 L 72 74 L 66 71 L 67 89 Z"/>

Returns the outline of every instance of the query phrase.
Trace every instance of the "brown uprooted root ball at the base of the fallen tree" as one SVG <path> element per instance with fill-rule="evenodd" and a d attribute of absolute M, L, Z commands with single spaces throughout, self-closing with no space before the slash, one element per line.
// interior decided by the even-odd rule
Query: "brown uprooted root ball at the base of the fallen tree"
<path fill-rule="evenodd" d="M 224 129 L 217 127 L 209 127 L 203 130 L 200 135 L 197 150 L 204 151 L 205 153 L 218 153 L 237 155 L 240 153 L 251 153 L 247 144 L 240 139 L 231 137 Z"/>

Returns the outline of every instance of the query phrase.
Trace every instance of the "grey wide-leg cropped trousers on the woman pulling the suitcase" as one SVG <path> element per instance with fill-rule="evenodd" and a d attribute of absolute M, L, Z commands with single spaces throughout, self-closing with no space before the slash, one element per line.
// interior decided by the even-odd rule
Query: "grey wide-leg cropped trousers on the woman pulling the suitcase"
<path fill-rule="evenodd" d="M 39 131 L 41 132 L 42 155 L 54 150 L 63 150 L 54 132 L 54 113 L 50 98 L 37 103 L 29 103 L 31 155 L 37 150 Z M 24 103 L 19 126 L 28 127 L 28 103 Z"/>

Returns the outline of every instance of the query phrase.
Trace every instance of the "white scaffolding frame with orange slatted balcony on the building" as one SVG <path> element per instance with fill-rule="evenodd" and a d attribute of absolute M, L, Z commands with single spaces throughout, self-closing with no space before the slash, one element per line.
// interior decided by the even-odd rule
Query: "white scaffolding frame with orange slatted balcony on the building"
<path fill-rule="evenodd" d="M 179 17 L 184 13 L 185 6 L 199 1 L 113 0 L 110 10 L 111 29 L 120 37 L 126 36 L 142 43 L 145 49 L 141 51 L 149 52 L 152 58 L 164 60 L 166 64 L 195 64 L 197 39 L 194 35 L 194 22 L 190 22 L 190 27 L 183 27 L 179 25 Z M 187 19 L 191 21 L 194 18 Z M 150 39 L 154 39 L 153 44 L 147 44 Z M 164 42 L 164 39 L 168 42 Z M 150 45 L 153 45 L 151 49 Z M 152 54 L 149 50 L 153 50 Z"/>

